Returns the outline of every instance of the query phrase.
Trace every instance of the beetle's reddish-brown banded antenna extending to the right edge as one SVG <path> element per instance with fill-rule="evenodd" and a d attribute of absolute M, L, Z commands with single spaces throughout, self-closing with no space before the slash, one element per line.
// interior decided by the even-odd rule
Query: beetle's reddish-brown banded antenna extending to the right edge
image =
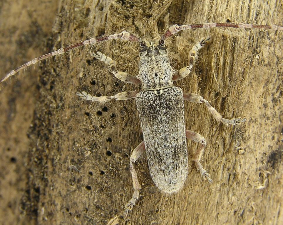
<path fill-rule="evenodd" d="M 172 25 L 160 38 L 160 41 L 165 40 L 178 33 L 181 30 L 189 30 L 196 28 L 215 28 L 215 27 L 232 27 L 232 28 L 240 28 L 240 29 L 251 29 L 251 28 L 259 28 L 265 30 L 283 30 L 283 27 L 279 26 L 269 26 L 269 25 L 257 25 L 257 24 L 241 24 L 241 23 L 200 23 L 200 24 L 190 24 L 190 25 L 182 25 L 178 26 L 177 24 Z"/>

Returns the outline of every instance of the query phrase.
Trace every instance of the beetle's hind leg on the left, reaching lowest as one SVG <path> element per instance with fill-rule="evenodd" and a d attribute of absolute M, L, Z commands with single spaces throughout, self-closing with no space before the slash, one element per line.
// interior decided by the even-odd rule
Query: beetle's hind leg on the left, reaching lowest
<path fill-rule="evenodd" d="M 125 211 L 124 215 L 126 216 L 128 212 L 130 212 L 134 205 L 136 200 L 138 200 L 139 197 L 139 190 L 141 189 L 140 183 L 138 182 L 138 176 L 135 171 L 135 168 L 133 167 L 133 163 L 140 157 L 141 154 L 145 151 L 145 144 L 144 141 L 141 142 L 135 150 L 132 152 L 131 157 L 130 157 L 130 170 L 132 174 L 132 179 L 133 179 L 133 187 L 134 187 L 134 193 L 130 201 L 125 204 Z"/>

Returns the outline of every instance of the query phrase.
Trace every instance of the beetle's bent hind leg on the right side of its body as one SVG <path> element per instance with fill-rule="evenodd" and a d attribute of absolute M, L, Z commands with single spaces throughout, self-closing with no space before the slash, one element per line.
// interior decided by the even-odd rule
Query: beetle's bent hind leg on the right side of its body
<path fill-rule="evenodd" d="M 195 166 L 197 167 L 197 170 L 200 171 L 200 174 L 202 175 L 202 177 L 208 180 L 209 183 L 212 183 L 212 180 L 210 179 L 210 174 L 207 173 L 207 171 L 200 164 L 200 158 L 206 147 L 205 138 L 202 137 L 199 133 L 191 131 L 191 130 L 186 130 L 186 138 L 191 139 L 195 142 L 199 142 L 201 144 L 200 148 L 197 149 L 196 153 L 192 157 L 192 161 L 195 161 Z"/>

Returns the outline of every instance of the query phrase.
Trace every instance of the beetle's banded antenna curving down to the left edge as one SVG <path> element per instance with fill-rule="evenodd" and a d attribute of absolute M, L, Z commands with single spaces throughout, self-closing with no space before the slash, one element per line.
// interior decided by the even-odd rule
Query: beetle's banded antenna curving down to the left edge
<path fill-rule="evenodd" d="M 85 41 L 81 41 L 81 42 L 77 42 L 75 44 L 69 45 L 67 47 L 64 48 L 60 48 L 55 52 L 50 52 L 47 53 L 45 55 L 39 56 L 35 59 L 32 59 L 31 61 L 21 65 L 20 67 L 12 70 L 9 74 L 7 74 L 6 76 L 4 76 L 1 80 L 0 80 L 0 84 L 3 83 L 4 81 L 6 81 L 9 77 L 15 75 L 16 73 L 18 73 L 19 71 L 25 69 L 26 67 L 36 64 L 38 62 L 40 62 L 43 59 L 48 59 L 52 56 L 56 56 L 56 55 L 61 55 L 64 52 L 68 52 L 71 49 L 74 49 L 76 47 L 79 46 L 83 46 L 83 45 L 94 45 L 96 42 L 100 42 L 100 41 L 106 41 L 106 40 L 112 40 L 112 39 L 122 39 L 122 40 L 127 40 L 127 41 L 133 41 L 133 42 L 142 42 L 142 40 L 138 37 L 136 37 L 135 35 L 128 33 L 126 31 L 122 31 L 119 34 L 113 34 L 113 35 L 109 35 L 109 36 L 105 36 L 105 37 L 101 37 L 101 38 L 91 38 L 89 40 L 85 40 Z"/>

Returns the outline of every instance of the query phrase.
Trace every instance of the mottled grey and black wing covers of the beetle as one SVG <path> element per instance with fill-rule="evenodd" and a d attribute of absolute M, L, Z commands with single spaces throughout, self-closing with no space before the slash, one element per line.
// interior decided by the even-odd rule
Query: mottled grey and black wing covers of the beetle
<path fill-rule="evenodd" d="M 187 178 L 183 101 L 182 89 L 177 87 L 136 95 L 151 177 L 165 192 L 177 191 Z"/>

